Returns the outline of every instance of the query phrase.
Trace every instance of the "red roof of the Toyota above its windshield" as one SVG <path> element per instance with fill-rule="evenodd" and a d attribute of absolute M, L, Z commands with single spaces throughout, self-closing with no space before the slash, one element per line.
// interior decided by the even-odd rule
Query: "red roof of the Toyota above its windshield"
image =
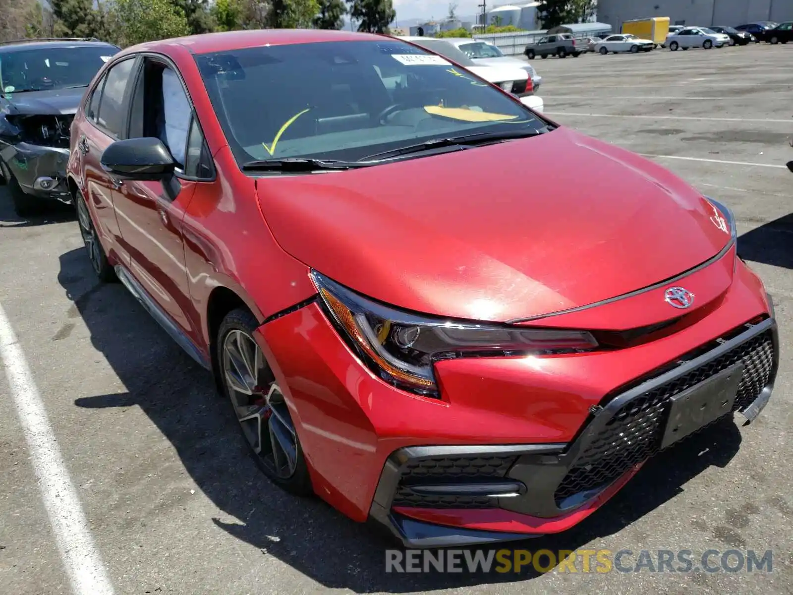
<path fill-rule="evenodd" d="M 327 41 L 376 41 L 384 38 L 396 39 L 393 36 L 375 33 L 356 33 L 353 31 L 335 31 L 333 29 L 247 29 L 147 41 L 144 44 L 133 45 L 131 48 L 127 48 L 125 52 L 149 51 L 167 54 L 169 48 L 181 46 L 193 54 L 206 54 L 257 48 L 263 45 L 312 44 Z"/>

